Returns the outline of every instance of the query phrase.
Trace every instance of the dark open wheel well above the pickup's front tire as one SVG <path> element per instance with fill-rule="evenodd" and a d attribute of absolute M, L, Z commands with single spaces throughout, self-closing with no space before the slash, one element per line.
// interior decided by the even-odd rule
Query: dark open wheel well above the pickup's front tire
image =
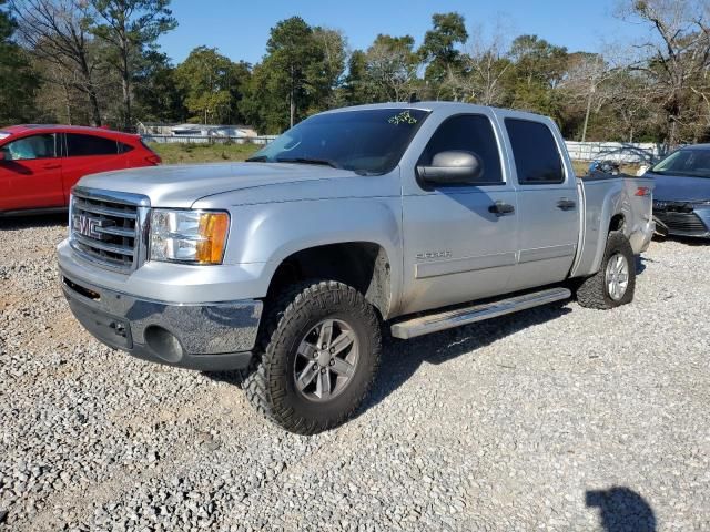
<path fill-rule="evenodd" d="M 273 300 L 286 286 L 306 279 L 338 280 L 352 286 L 387 318 L 390 305 L 389 259 L 385 249 L 368 242 L 310 247 L 285 258 L 268 286 Z"/>

